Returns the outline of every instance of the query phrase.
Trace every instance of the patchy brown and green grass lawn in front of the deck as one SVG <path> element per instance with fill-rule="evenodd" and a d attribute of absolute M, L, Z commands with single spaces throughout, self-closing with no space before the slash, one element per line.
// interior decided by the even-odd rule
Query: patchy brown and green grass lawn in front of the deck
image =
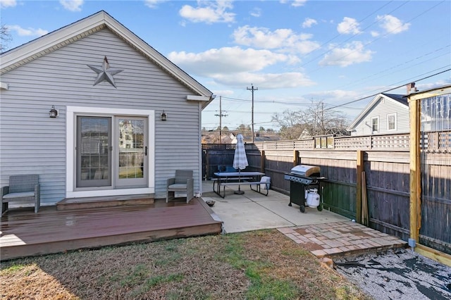
<path fill-rule="evenodd" d="M 371 299 L 277 230 L 1 263 L 1 299 Z"/>

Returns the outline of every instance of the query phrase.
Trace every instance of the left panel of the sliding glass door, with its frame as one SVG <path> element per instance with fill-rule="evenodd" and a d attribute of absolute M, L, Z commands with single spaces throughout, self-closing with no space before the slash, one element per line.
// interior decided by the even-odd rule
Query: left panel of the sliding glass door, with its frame
<path fill-rule="evenodd" d="M 78 187 L 111 185 L 111 118 L 78 117 Z"/>

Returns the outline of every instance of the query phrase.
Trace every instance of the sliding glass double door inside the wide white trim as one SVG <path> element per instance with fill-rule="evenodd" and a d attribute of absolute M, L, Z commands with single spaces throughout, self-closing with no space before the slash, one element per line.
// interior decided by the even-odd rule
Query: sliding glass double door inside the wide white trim
<path fill-rule="evenodd" d="M 76 188 L 147 187 L 147 118 L 78 115 L 76 128 Z"/>

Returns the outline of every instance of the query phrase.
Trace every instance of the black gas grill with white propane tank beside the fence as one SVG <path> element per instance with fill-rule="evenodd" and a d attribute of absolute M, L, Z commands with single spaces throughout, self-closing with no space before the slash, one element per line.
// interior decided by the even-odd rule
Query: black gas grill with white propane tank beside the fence
<path fill-rule="evenodd" d="M 290 180 L 290 204 L 299 205 L 299 210 L 305 212 L 305 204 L 307 206 L 316 207 L 318 211 L 323 210 L 323 206 L 320 204 L 319 199 L 321 180 L 325 180 L 326 177 L 321 177 L 321 170 L 316 165 L 296 165 L 291 169 L 290 173 L 285 173 L 283 176 L 285 180 Z"/>

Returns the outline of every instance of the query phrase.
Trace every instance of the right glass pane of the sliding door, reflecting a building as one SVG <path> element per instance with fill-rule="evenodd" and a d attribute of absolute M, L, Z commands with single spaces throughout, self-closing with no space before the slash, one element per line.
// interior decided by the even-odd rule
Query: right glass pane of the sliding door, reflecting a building
<path fill-rule="evenodd" d="M 120 118 L 119 179 L 144 177 L 144 120 Z"/>

